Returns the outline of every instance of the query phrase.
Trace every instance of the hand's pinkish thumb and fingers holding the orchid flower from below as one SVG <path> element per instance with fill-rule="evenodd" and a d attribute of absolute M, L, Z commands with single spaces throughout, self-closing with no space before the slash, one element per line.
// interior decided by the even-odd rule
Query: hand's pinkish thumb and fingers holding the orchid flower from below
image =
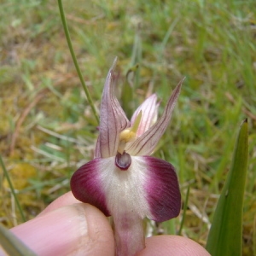
<path fill-rule="evenodd" d="M 12 229 L 38 255 L 114 255 L 113 230 L 96 207 L 77 201 L 71 192 L 46 207 L 38 217 Z M 0 249 L 0 255 L 4 253 Z M 194 255 L 207 251 L 182 236 L 152 236 L 136 256 Z"/>

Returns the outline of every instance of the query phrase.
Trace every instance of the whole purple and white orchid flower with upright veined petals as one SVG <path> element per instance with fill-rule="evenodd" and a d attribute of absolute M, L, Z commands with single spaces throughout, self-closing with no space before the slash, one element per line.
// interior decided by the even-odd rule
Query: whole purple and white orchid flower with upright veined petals
<path fill-rule="evenodd" d="M 156 121 L 159 104 L 154 94 L 129 121 L 114 96 L 113 67 L 102 93 L 95 158 L 74 172 L 71 189 L 79 201 L 113 216 L 116 255 L 131 256 L 145 247 L 143 218 L 162 222 L 180 212 L 174 167 L 149 155 L 166 131 L 183 81 L 173 90 L 160 119 Z"/>

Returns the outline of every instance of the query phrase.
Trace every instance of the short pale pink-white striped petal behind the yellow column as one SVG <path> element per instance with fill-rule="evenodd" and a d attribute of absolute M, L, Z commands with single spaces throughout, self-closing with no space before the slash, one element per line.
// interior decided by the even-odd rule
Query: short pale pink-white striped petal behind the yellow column
<path fill-rule="evenodd" d="M 131 117 L 131 126 L 137 118 L 138 113 L 142 111 L 143 117 L 141 119 L 140 125 L 137 129 L 137 136 L 141 136 L 145 131 L 148 131 L 148 128 L 151 125 L 154 125 L 154 120 L 157 117 L 158 106 L 159 104 L 156 102 L 157 96 L 153 94 L 149 96 L 133 113 Z"/>

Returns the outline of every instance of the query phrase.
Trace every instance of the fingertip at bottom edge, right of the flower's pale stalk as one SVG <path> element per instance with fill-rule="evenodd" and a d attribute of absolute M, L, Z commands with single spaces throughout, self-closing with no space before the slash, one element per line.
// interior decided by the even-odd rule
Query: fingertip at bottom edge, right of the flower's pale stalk
<path fill-rule="evenodd" d="M 204 247 L 183 236 L 152 236 L 137 256 L 210 256 Z"/>

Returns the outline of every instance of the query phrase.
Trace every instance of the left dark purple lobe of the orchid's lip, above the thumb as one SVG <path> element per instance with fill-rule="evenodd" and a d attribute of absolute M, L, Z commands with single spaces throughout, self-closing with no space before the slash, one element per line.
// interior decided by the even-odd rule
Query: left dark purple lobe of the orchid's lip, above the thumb
<path fill-rule="evenodd" d="M 99 163 L 102 161 L 102 159 L 96 158 L 81 166 L 73 173 L 70 187 L 76 199 L 89 203 L 100 209 L 106 216 L 110 216 L 99 173 L 101 171 Z"/>

